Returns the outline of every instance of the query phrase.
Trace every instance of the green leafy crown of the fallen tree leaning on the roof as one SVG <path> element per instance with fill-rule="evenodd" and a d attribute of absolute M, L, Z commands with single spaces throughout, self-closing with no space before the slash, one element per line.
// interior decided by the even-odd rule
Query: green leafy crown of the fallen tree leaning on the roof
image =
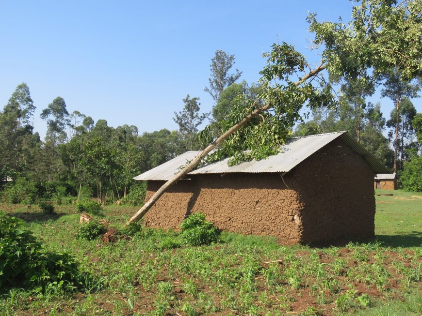
<path fill-rule="evenodd" d="M 393 67 L 403 78 L 421 74 L 421 1 L 362 0 L 352 11 L 348 24 L 342 21 L 318 22 L 315 14 L 308 16 L 314 45 L 324 45 L 322 61 L 315 71 L 304 55 L 287 43 L 274 44 L 265 53 L 267 65 L 260 72 L 260 92 L 256 99 L 242 94 L 235 98 L 231 112 L 222 121 L 223 133 L 258 108 L 265 108 L 236 130 L 209 155 L 207 162 L 232 157 L 230 165 L 263 159 L 279 152 L 292 135 L 295 122 L 303 121 L 310 109 L 335 108 L 337 101 L 330 84 L 321 74 L 326 68 L 332 77 L 347 77 L 359 82 L 362 89 L 373 91 L 375 82 Z M 302 80 L 301 78 L 305 78 Z M 298 80 L 298 81 L 296 81 Z M 212 126 L 200 137 L 211 142 Z"/>

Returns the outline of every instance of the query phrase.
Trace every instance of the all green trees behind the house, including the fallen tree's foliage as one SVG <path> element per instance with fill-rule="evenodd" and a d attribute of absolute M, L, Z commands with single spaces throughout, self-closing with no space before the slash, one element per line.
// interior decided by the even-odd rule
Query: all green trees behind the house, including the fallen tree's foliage
<path fill-rule="evenodd" d="M 212 111 L 201 113 L 199 98 L 187 94 L 183 108 L 174 113 L 177 131 L 139 135 L 133 125 L 110 127 L 106 120 L 95 122 L 78 111 L 69 114 L 65 100 L 57 97 L 42 110 L 48 129 L 41 140 L 31 124 L 35 106 L 29 88 L 20 84 L 0 112 L 2 184 L 7 178 L 70 183 L 74 194 L 89 188 L 101 202 L 120 200 L 136 187 L 133 176 L 186 150 L 204 149 L 255 112 L 217 146 L 209 161 L 260 159 L 276 153 L 292 135 L 347 130 L 392 171 L 403 174 L 406 184 L 406 175 L 414 177 L 421 166 L 422 119 L 411 102 L 421 87 L 419 9 L 418 1 L 396 6 L 362 1 L 350 25 L 318 22 L 309 15 L 314 44 L 325 45 L 321 65 L 311 70 L 293 46 L 275 44 L 264 54 L 267 66 L 254 84 L 239 82 L 242 72 L 230 72 L 235 56 L 217 50 L 205 88 L 214 100 Z M 390 52 L 391 38 L 401 45 L 400 54 Z M 325 69 L 327 78 L 320 76 Z M 380 102 L 367 101 L 378 87 L 394 103 L 387 118 Z M 199 132 L 207 119 L 210 124 Z M 422 190 L 410 182 L 411 189 Z"/>

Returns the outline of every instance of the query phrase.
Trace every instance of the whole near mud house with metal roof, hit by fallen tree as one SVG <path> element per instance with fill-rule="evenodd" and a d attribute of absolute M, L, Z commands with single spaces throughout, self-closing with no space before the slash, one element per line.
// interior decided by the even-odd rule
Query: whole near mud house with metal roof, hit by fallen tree
<path fill-rule="evenodd" d="M 197 154 L 188 151 L 135 180 L 148 181 L 146 200 Z M 203 212 L 221 229 L 274 235 L 288 243 L 374 236 L 373 177 L 388 172 L 347 132 L 292 138 L 260 161 L 204 165 L 166 192 L 146 226 L 177 229 Z"/>

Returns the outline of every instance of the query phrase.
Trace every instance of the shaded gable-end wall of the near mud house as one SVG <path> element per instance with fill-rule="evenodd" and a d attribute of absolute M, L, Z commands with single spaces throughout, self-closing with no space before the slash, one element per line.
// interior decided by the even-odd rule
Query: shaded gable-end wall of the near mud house
<path fill-rule="evenodd" d="M 374 237 L 373 170 L 340 139 L 297 166 L 294 177 L 301 211 L 302 242 Z"/>

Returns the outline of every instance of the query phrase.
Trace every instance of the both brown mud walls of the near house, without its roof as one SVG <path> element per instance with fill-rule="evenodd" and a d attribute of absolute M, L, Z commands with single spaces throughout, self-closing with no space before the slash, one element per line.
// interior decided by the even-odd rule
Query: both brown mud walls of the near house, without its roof
<path fill-rule="evenodd" d="M 189 177 L 164 193 L 146 214 L 146 226 L 177 229 L 186 216 L 200 211 L 221 229 L 273 235 L 288 243 L 374 234 L 373 171 L 341 140 L 283 178 L 278 173 Z M 148 181 L 146 200 L 163 183 Z"/>

